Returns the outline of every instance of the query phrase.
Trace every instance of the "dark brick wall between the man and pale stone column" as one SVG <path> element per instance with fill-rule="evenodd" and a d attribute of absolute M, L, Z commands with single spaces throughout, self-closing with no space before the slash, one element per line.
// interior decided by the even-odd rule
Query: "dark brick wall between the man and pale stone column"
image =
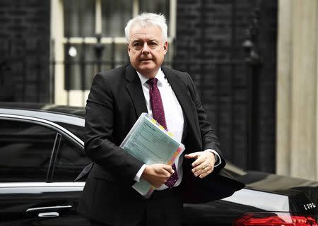
<path fill-rule="evenodd" d="M 256 3 L 178 1 L 175 67 L 189 72 L 194 79 L 225 157 L 245 169 L 273 172 L 277 6 L 275 0 L 261 1 L 257 44 L 264 64 L 257 75 L 260 89 L 259 97 L 254 97 L 254 108 L 258 113 L 253 122 L 249 109 L 253 97 L 249 90 L 252 70 L 245 63 L 242 43 L 247 38 Z M 249 136 L 252 129 L 258 131 Z"/>

